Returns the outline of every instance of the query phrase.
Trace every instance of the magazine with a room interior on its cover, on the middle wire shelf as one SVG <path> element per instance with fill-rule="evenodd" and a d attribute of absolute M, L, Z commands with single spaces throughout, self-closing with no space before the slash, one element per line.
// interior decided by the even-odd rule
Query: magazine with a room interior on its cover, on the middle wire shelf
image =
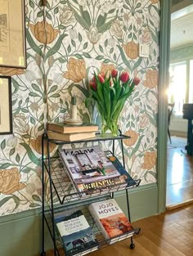
<path fill-rule="evenodd" d="M 124 175 L 114 167 L 100 146 L 59 149 L 59 154 L 79 191 L 127 185 Z"/>

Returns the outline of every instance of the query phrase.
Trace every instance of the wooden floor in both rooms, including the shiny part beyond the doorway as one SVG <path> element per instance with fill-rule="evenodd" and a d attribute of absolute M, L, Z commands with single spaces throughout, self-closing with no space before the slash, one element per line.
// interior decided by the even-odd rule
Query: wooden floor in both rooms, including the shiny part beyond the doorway
<path fill-rule="evenodd" d="M 172 137 L 173 143 L 168 146 L 168 205 L 193 199 L 193 157 L 186 155 L 183 141 L 177 146 L 174 139 Z M 140 234 L 133 239 L 135 249 L 129 248 L 130 239 L 127 239 L 87 255 L 193 256 L 193 204 L 133 222 L 132 225 L 141 227 Z M 47 252 L 47 256 L 53 255 L 52 251 Z"/>

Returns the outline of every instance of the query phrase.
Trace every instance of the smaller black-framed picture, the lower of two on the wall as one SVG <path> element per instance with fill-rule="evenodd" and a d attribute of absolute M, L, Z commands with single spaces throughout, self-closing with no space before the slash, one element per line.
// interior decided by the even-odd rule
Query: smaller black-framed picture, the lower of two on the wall
<path fill-rule="evenodd" d="M 11 77 L 0 76 L 0 135 L 12 133 Z"/>

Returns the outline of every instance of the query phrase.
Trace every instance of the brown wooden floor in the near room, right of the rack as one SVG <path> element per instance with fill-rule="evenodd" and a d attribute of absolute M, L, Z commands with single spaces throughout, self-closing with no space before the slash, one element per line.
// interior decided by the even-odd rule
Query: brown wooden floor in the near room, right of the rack
<path fill-rule="evenodd" d="M 99 249 L 89 256 L 192 256 L 193 255 L 193 204 L 174 209 L 159 216 L 132 223 L 141 227 L 141 233 L 130 239 Z M 63 255 L 63 254 L 62 254 Z M 53 256 L 48 252 L 47 256 Z"/>

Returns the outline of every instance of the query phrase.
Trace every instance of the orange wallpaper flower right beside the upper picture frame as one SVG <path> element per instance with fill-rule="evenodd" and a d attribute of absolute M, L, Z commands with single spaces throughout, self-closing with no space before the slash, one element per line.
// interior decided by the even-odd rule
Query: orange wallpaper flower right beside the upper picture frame
<path fill-rule="evenodd" d="M 52 25 L 48 24 L 47 21 L 38 21 L 36 25 L 29 24 L 29 28 L 34 37 L 43 44 L 52 43 L 59 34 L 59 30 L 53 29 Z"/>

